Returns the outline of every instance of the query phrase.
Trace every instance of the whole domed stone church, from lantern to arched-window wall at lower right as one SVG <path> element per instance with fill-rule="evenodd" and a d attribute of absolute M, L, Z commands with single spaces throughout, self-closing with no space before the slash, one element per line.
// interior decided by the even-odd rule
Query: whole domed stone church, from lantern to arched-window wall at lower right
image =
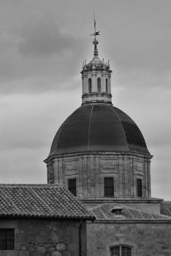
<path fill-rule="evenodd" d="M 48 183 L 64 185 L 96 217 L 87 225 L 91 256 L 171 255 L 171 204 L 151 198 L 151 154 L 136 123 L 111 102 L 110 63 L 83 62 L 82 106 L 60 126 Z"/>

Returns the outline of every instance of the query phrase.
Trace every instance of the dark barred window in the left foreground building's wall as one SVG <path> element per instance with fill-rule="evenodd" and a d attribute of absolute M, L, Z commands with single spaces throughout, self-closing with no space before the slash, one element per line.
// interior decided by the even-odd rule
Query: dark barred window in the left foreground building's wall
<path fill-rule="evenodd" d="M 0 250 L 14 250 L 14 229 L 0 229 Z"/>

